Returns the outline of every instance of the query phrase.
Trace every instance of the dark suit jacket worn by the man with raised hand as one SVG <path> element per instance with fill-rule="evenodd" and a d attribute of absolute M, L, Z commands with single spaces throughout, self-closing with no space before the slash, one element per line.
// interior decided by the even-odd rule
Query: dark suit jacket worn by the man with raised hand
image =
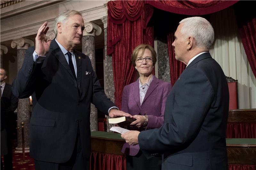
<path fill-rule="evenodd" d="M 100 87 L 87 55 L 74 50 L 76 81 L 56 41 L 51 42 L 42 63 L 34 62 L 34 50 L 35 47 L 27 50 L 22 68 L 12 84 L 13 94 L 19 98 L 27 98 L 33 93 L 30 155 L 40 161 L 67 162 L 74 150 L 79 127 L 83 155 L 89 158 L 90 104 L 92 102 L 105 114 L 115 105 Z"/>

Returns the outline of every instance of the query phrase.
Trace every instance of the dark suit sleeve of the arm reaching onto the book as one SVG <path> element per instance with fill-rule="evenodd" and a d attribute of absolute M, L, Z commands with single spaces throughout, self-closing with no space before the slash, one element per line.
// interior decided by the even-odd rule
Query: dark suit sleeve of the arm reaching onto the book
<path fill-rule="evenodd" d="M 100 82 L 97 78 L 96 73 L 92 70 L 92 83 L 93 83 L 93 94 L 92 104 L 94 104 L 101 112 L 108 115 L 108 109 L 110 107 L 116 107 L 116 105 L 106 96 L 105 92 L 100 86 Z"/>

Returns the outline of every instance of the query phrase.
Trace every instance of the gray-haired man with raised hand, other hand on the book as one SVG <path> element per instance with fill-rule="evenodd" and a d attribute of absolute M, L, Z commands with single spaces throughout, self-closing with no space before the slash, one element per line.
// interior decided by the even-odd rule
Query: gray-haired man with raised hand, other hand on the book
<path fill-rule="evenodd" d="M 36 170 L 89 169 L 91 103 L 110 117 L 131 115 L 107 98 L 90 58 L 74 49 L 83 37 L 81 13 L 61 12 L 55 18 L 52 42 L 45 41 L 48 29 L 44 22 L 12 83 L 15 96 L 32 95 L 30 155 Z"/>

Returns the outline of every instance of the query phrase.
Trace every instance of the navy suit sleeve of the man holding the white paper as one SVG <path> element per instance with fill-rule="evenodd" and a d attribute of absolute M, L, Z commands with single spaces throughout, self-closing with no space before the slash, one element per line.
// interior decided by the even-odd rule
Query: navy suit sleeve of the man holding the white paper
<path fill-rule="evenodd" d="M 164 153 L 189 144 L 196 137 L 214 98 L 209 79 L 199 69 L 190 69 L 172 93 L 174 95 L 167 97 L 166 106 L 173 106 L 165 110 L 165 114 L 172 114 L 172 117 L 159 129 L 139 134 L 140 149 L 147 154 Z"/>

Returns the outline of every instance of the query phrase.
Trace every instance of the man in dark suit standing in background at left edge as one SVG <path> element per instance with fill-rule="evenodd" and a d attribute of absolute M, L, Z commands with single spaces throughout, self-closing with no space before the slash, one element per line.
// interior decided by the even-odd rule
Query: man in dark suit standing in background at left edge
<path fill-rule="evenodd" d="M 15 129 L 14 110 L 18 98 L 12 94 L 11 85 L 5 82 L 7 71 L 0 69 L 1 81 L 1 156 L 4 155 L 4 170 L 12 169 L 12 136 Z M 3 163 L 1 160 L 1 169 Z"/>

